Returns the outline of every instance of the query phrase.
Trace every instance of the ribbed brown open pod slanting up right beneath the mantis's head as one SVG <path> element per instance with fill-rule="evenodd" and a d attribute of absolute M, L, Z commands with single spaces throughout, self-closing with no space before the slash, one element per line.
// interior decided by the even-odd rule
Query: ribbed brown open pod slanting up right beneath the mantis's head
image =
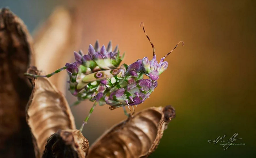
<path fill-rule="evenodd" d="M 174 117 L 171 106 L 143 110 L 105 132 L 90 148 L 88 158 L 148 157 Z"/>

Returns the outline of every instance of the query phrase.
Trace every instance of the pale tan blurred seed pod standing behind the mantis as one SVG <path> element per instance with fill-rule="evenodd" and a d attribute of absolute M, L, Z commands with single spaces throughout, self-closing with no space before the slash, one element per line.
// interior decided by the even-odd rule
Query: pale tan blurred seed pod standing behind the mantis
<path fill-rule="evenodd" d="M 79 23 L 77 9 L 57 7 L 46 23 L 42 25 L 34 38 L 36 67 L 46 73 L 63 67 L 73 58 L 74 50 L 80 46 L 82 26 Z M 58 73 L 50 81 L 65 92 L 66 73 Z"/>

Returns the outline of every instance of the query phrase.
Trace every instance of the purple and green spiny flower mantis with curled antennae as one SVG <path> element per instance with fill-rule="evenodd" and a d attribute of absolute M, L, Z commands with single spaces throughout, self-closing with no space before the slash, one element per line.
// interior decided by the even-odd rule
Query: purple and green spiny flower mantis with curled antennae
<path fill-rule="evenodd" d="M 152 60 L 144 57 L 130 65 L 123 64 L 118 68 L 124 58 L 124 54 L 120 55 L 118 45 L 112 51 L 111 41 L 107 48 L 104 45 L 100 48 L 97 40 L 94 47 L 89 45 L 88 54 L 84 55 L 81 50 L 74 52 L 75 62 L 66 63 L 64 67 L 53 73 L 48 75 L 26 73 L 25 75 L 35 78 L 51 77 L 66 69 L 70 78 L 69 91 L 78 99 L 74 105 L 86 99 L 95 102 L 80 128 L 81 131 L 97 104 L 100 106 L 108 104 L 110 109 L 123 107 L 125 115 L 128 115 L 125 106 L 137 106 L 149 98 L 157 87 L 159 75 L 168 67 L 168 62 L 164 59 L 179 43 L 184 44 L 183 41 L 178 42 L 158 63 L 155 47 L 145 32 L 143 22 L 141 25 L 153 48 Z M 149 79 L 143 79 L 143 75 L 148 76 Z"/>

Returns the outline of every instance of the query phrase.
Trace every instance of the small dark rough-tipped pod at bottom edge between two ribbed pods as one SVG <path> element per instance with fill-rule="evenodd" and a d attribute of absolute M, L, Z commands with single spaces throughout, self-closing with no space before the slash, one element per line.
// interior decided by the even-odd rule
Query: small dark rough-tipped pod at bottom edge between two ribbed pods
<path fill-rule="evenodd" d="M 89 142 L 79 130 L 58 130 L 47 139 L 43 158 L 85 158 Z"/>

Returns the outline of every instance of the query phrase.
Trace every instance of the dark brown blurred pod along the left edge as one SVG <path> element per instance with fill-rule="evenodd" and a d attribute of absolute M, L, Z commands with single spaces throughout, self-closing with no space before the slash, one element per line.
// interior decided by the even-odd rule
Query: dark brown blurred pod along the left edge
<path fill-rule="evenodd" d="M 32 55 L 32 39 L 23 21 L 0 10 L 0 153 L 2 157 L 34 157 L 25 106 L 31 86 L 24 73 Z"/>

